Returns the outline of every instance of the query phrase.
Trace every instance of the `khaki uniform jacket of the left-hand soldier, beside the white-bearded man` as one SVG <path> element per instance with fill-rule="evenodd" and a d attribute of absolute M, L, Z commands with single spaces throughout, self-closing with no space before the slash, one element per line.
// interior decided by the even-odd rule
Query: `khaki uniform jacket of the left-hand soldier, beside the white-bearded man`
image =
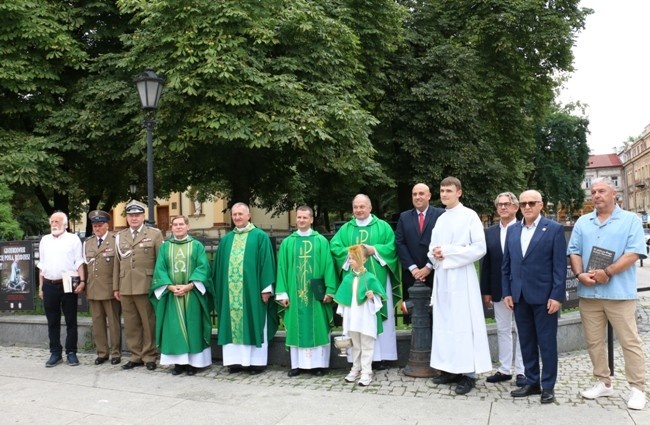
<path fill-rule="evenodd" d="M 89 300 L 113 299 L 113 267 L 115 264 L 115 233 L 108 232 L 97 247 L 97 236 L 84 241 L 86 263 L 86 296 Z"/>

